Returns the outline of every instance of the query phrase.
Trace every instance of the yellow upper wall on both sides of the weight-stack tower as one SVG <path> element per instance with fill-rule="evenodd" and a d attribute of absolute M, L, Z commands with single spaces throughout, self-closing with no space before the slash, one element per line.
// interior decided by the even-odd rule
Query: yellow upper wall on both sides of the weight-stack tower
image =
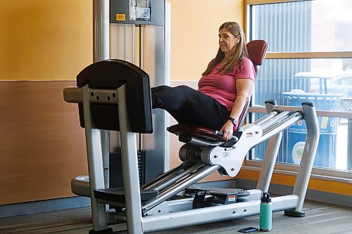
<path fill-rule="evenodd" d="M 218 27 L 244 22 L 243 0 L 171 0 L 171 79 L 199 79 Z M 92 63 L 92 0 L 0 3 L 1 80 L 74 80 Z"/>

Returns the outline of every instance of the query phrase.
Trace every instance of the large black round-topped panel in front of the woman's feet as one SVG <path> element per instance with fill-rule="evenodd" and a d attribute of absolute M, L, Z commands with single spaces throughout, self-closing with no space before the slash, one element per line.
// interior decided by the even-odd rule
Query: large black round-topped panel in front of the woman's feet
<path fill-rule="evenodd" d="M 77 86 L 89 84 L 91 89 L 118 89 L 126 84 L 127 113 L 133 132 L 153 132 L 149 76 L 142 69 L 124 60 L 103 60 L 84 68 L 77 75 Z M 82 104 L 79 104 L 80 125 L 84 127 Z M 91 103 L 94 128 L 120 131 L 117 105 Z"/>

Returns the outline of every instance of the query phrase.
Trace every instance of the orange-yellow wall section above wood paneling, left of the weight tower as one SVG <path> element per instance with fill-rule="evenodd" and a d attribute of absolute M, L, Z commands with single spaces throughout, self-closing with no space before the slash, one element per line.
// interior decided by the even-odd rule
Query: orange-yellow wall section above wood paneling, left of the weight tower
<path fill-rule="evenodd" d="M 0 1 L 0 79 L 75 79 L 92 63 L 92 0 Z"/>

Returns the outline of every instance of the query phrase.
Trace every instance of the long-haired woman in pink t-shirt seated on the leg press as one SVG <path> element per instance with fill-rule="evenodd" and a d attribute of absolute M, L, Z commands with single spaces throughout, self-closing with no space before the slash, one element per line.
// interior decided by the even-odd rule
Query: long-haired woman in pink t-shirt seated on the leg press
<path fill-rule="evenodd" d="M 237 22 L 220 26 L 218 53 L 202 75 L 198 90 L 188 86 L 152 88 L 153 108 L 168 111 L 180 124 L 220 129 L 228 141 L 251 98 L 256 76 Z"/>

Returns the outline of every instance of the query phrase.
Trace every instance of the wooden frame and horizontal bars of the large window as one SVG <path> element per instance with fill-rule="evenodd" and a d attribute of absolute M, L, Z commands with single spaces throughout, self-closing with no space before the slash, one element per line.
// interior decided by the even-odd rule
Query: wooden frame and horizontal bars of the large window
<path fill-rule="evenodd" d="M 279 4 L 284 2 L 295 1 L 315 1 L 315 0 L 245 0 L 244 1 L 244 32 L 246 41 L 251 39 L 251 6 L 261 4 Z M 269 45 L 270 48 L 270 45 Z M 285 52 L 267 53 L 265 59 L 297 59 L 297 58 L 352 58 L 352 51 L 327 51 L 327 52 Z M 251 98 L 252 107 L 249 108 L 249 113 L 265 113 L 266 109 L 263 106 L 253 106 L 254 98 Z M 352 112 L 337 112 L 337 111 L 317 111 L 318 116 L 323 117 L 340 117 L 352 119 Z M 250 115 L 249 115 L 250 116 Z M 253 119 L 250 119 L 253 122 Z M 247 155 L 244 160 L 244 169 L 258 171 L 263 165 L 263 161 L 249 160 Z M 299 165 L 294 164 L 275 164 L 274 172 L 277 174 L 294 175 L 297 174 Z M 338 169 L 325 169 L 313 167 L 312 178 L 320 178 L 328 181 L 339 181 L 344 183 L 352 183 L 352 171 L 341 171 Z"/>

